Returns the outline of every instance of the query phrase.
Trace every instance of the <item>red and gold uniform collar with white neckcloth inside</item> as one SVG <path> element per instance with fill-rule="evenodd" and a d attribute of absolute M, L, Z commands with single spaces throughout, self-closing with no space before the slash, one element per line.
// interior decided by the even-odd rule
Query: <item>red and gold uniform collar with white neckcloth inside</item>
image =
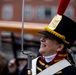
<path fill-rule="evenodd" d="M 58 51 L 56 55 L 48 56 L 48 60 L 44 58 L 44 56 L 41 56 L 41 61 L 43 63 L 48 63 L 49 65 L 52 65 L 62 59 L 67 58 L 67 52 L 66 51 Z M 48 61 L 48 62 L 47 62 Z"/>

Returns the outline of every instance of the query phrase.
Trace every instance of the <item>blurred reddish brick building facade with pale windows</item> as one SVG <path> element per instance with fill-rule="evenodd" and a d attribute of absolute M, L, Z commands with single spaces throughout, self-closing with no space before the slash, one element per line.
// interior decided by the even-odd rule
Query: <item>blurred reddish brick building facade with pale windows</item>
<path fill-rule="evenodd" d="M 56 14 L 59 0 L 25 0 L 25 21 L 49 23 Z M 65 12 L 76 20 L 76 1 L 72 0 Z M 22 0 L 0 0 L 0 20 L 21 21 Z"/>

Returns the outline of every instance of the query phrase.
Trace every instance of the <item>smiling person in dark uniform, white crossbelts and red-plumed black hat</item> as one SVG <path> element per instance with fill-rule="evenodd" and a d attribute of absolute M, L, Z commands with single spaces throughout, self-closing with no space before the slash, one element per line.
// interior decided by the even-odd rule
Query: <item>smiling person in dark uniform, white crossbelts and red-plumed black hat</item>
<path fill-rule="evenodd" d="M 57 15 L 39 33 L 40 56 L 32 60 L 32 74 L 27 66 L 19 75 L 76 75 L 76 67 L 68 59 L 68 50 L 76 39 L 76 22 L 63 15 L 70 0 L 61 0 Z"/>

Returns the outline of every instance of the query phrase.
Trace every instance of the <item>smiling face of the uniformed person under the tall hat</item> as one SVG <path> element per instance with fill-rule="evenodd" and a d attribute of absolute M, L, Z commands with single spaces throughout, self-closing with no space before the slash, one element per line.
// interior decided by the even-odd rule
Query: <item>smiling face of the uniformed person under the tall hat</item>
<path fill-rule="evenodd" d="M 59 48 L 58 42 L 51 37 L 42 37 L 39 52 L 44 56 L 55 54 Z"/>

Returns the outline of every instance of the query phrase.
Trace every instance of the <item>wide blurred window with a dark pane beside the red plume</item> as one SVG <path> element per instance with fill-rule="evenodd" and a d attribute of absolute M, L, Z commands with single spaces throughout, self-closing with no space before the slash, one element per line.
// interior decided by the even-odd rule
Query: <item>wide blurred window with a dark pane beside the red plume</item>
<path fill-rule="evenodd" d="M 36 18 L 50 20 L 56 14 L 56 7 L 43 7 L 39 6 L 36 8 Z"/>

